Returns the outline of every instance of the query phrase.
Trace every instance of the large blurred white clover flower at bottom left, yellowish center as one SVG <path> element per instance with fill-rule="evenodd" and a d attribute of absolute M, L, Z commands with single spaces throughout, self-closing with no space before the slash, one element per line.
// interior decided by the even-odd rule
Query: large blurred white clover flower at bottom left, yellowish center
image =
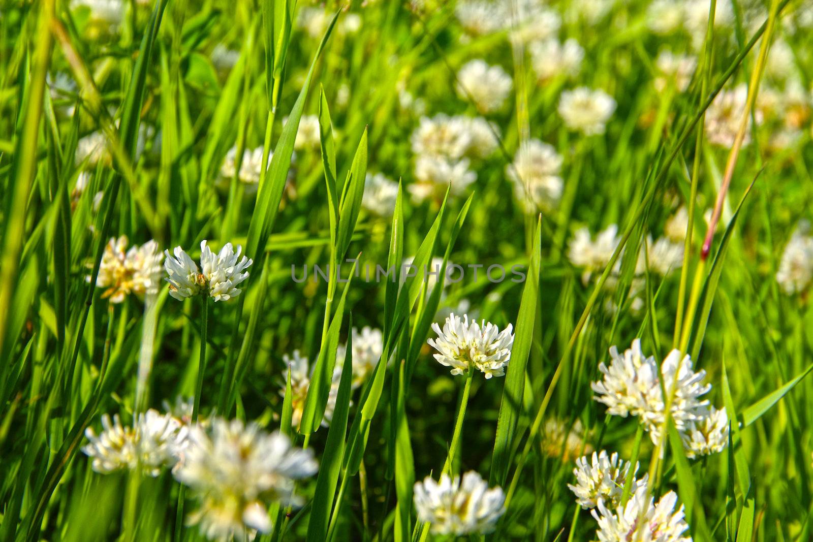
<path fill-rule="evenodd" d="M 272 530 L 268 505 L 295 504 L 295 480 L 314 475 L 309 449 L 296 449 L 279 431 L 267 433 L 254 423 L 215 418 L 211 431 L 193 427 L 175 478 L 198 498 L 189 516 L 210 540 L 245 540 Z"/>

